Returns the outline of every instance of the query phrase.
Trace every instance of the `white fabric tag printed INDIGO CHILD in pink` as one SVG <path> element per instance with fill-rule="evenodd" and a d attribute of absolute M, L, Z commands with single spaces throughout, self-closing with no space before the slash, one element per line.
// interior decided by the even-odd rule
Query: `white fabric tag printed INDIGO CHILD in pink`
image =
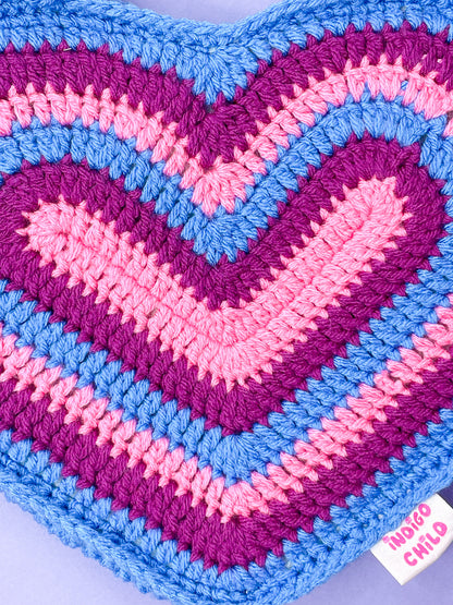
<path fill-rule="evenodd" d="M 405 584 L 429 567 L 453 541 L 453 508 L 438 494 L 417 506 L 371 553 Z"/>

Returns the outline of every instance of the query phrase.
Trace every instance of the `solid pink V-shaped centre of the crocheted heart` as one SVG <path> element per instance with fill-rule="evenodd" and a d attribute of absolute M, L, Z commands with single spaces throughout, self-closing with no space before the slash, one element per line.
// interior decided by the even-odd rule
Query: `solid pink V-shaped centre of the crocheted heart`
<path fill-rule="evenodd" d="M 345 189 L 343 201 L 332 198 L 333 211 L 325 213 L 322 225 L 311 225 L 315 237 L 305 238 L 302 250 L 294 247 L 293 258 L 282 259 L 285 268 L 272 270 L 274 281 L 264 282 L 240 308 L 225 303 L 210 311 L 192 288 L 181 287 L 169 264 L 159 265 L 143 242 L 131 245 L 128 233 L 117 233 L 113 221 L 106 225 L 100 211 L 91 216 L 84 205 L 41 202 L 19 232 L 41 265 L 54 265 L 53 277 L 68 275 L 70 288 L 85 283 L 84 294 L 97 292 L 97 303 L 108 301 L 110 313 L 134 319 L 136 330 L 147 330 L 148 341 L 159 338 L 174 360 L 184 355 L 200 379 L 210 373 L 213 384 L 224 379 L 232 388 L 271 372 L 270 362 L 306 339 L 314 319 L 327 317 L 328 305 L 405 234 L 408 215 L 394 183 L 375 178 Z"/>

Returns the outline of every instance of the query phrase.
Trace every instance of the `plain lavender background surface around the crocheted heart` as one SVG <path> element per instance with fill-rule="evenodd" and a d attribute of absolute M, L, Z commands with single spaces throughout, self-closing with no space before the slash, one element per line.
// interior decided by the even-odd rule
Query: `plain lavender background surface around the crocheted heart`
<path fill-rule="evenodd" d="M 0 0 L 1 1 L 1 0 Z M 64 1 L 64 0 L 62 0 Z M 233 22 L 261 11 L 271 0 L 133 0 L 175 17 Z M 453 486 L 441 493 L 453 505 Z M 453 547 L 405 586 L 366 553 L 326 584 L 304 596 L 303 605 L 451 605 L 449 571 Z M 166 605 L 64 546 L 33 517 L 0 494 L 0 604 L 4 605 Z"/>

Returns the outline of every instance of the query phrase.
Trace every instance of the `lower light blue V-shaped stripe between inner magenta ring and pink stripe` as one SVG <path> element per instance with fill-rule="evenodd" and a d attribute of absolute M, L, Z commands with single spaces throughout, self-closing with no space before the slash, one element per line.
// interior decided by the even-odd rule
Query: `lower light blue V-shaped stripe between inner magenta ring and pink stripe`
<path fill-rule="evenodd" d="M 308 440 L 308 427 L 321 428 L 320 418 L 333 419 L 333 406 L 346 406 L 347 395 L 357 397 L 360 383 L 372 385 L 387 359 L 400 360 L 399 347 L 413 348 L 407 334 L 425 336 L 423 324 L 438 320 L 433 308 L 450 306 L 444 292 L 453 291 L 453 237 L 440 246 L 444 256 L 431 259 L 433 271 L 419 270 L 421 283 L 408 285 L 407 297 L 394 295 L 394 307 L 381 310 L 383 319 L 370 322 L 371 334 L 359 332 L 362 347 L 348 344 L 347 359 L 335 358 L 335 370 L 323 367 L 322 380 L 309 379 L 308 391 L 297 391 L 297 403 L 285 402 L 284 414 L 269 414 L 270 426 L 255 425 L 254 433 L 221 437 L 220 427 L 204 429 L 204 418 L 191 422 L 189 409 L 177 412 L 176 401 L 161 406 L 161 392 L 146 395 L 147 380 L 134 383 L 132 371 L 120 373 L 121 362 L 105 363 L 106 351 L 89 353 L 89 343 L 76 342 L 77 332 L 64 334 L 63 323 L 48 324 L 49 313 L 34 313 L 36 303 L 19 302 L 21 291 L 4 292 L 5 282 L 0 282 L 0 320 L 4 335 L 20 335 L 19 347 L 36 347 L 34 356 L 48 356 L 49 367 L 62 365 L 63 376 L 77 373 L 77 386 L 94 384 L 96 398 L 111 398 L 109 409 L 124 409 L 124 421 L 137 418 L 139 429 L 151 426 L 156 439 L 170 438 L 170 449 L 183 445 L 185 459 L 196 455 L 198 468 L 211 465 L 213 476 L 225 475 L 230 485 L 250 481 L 253 470 L 267 474 L 269 461 L 281 464 L 281 451 L 294 453 L 293 439 Z"/>

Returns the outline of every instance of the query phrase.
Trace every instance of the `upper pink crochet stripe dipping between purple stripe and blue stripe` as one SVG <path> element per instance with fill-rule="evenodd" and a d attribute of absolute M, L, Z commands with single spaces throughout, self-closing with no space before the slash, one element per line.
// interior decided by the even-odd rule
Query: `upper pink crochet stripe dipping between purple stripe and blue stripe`
<path fill-rule="evenodd" d="M 96 120 L 100 130 L 108 132 L 113 126 L 119 138 L 136 137 L 136 149 L 152 149 L 152 162 L 164 160 L 164 173 L 169 177 L 181 174 L 181 187 L 194 187 L 193 202 L 200 205 L 207 215 L 212 215 L 222 205 L 229 213 L 234 211 L 235 197 L 246 199 L 245 185 L 255 184 L 254 173 L 266 174 L 265 160 L 276 162 L 277 145 L 289 147 L 287 136 L 301 136 L 299 122 L 314 125 L 315 112 L 326 113 L 327 104 L 340 107 L 351 93 L 359 100 L 365 84 L 376 97 L 382 93 L 387 100 L 403 97 L 403 105 L 414 102 L 416 113 L 425 112 L 427 119 L 437 118 L 453 110 L 453 92 L 446 85 L 436 83 L 437 72 L 420 75 L 420 64 L 405 70 L 399 58 L 395 64 L 384 56 L 377 65 L 370 65 L 364 57 L 359 66 L 346 62 L 343 74 L 332 74 L 325 70 L 326 80 L 318 82 L 309 77 L 309 88 L 294 85 L 293 98 L 282 97 L 283 109 L 276 111 L 269 107 L 270 122 L 257 122 L 258 134 L 247 135 L 249 148 L 235 150 L 235 161 L 224 162 L 218 157 L 210 168 L 203 169 L 199 155 L 188 157 L 187 140 L 176 136 L 177 123 L 164 124 L 163 111 L 147 117 L 143 104 L 137 109 L 131 107 L 124 95 L 118 102 L 111 100 L 110 89 L 102 90 L 100 98 L 87 86 L 84 95 L 74 93 L 69 85 L 64 93 L 57 93 L 47 84 L 44 93 L 37 93 L 28 84 L 25 94 L 19 94 L 12 86 L 8 99 L 0 100 L 0 135 L 11 134 L 14 120 L 27 128 L 36 116 L 41 123 L 48 124 L 53 117 L 61 124 L 72 124 L 77 118 L 87 128 Z M 407 86 L 402 89 L 402 84 Z M 449 122 L 445 135 L 453 133 L 453 122 Z"/>

